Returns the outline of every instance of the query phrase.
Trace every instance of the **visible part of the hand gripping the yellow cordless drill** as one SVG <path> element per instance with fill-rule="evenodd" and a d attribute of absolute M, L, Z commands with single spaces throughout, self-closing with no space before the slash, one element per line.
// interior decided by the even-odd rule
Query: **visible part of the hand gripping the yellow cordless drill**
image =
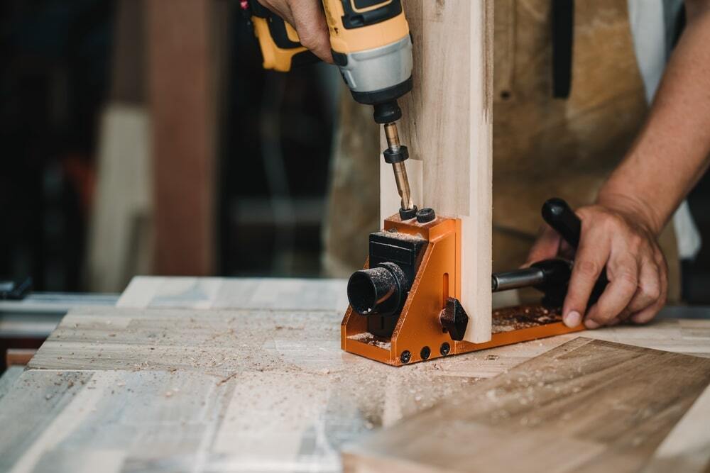
<path fill-rule="evenodd" d="M 301 44 L 325 62 L 333 62 L 330 52 L 330 35 L 325 13 L 319 0 L 290 1 L 293 27 L 298 32 Z"/>

